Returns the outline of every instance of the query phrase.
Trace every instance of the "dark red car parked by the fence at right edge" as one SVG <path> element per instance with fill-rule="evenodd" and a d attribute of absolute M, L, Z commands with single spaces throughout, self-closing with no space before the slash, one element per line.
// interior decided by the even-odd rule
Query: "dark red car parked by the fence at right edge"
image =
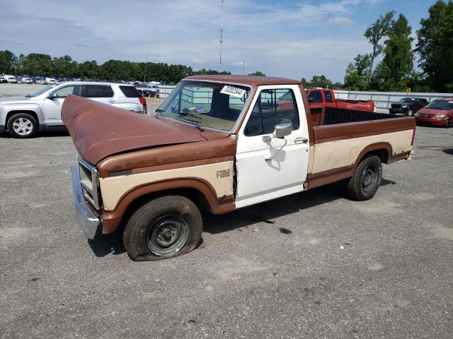
<path fill-rule="evenodd" d="M 453 97 L 436 99 L 414 114 L 417 124 L 431 124 L 452 127 L 453 121 Z"/>

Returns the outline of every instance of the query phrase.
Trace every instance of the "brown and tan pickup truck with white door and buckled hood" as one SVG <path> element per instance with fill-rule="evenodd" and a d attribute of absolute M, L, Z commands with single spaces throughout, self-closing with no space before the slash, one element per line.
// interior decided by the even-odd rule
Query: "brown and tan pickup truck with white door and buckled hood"
<path fill-rule="evenodd" d="M 251 76 L 190 76 L 151 116 L 69 95 L 62 119 L 78 152 L 81 229 L 93 239 L 125 225 L 134 260 L 195 249 L 201 209 L 227 213 L 342 179 L 352 198 L 372 198 L 382 162 L 411 160 L 415 134 L 414 118 L 310 109 L 299 81 Z"/>

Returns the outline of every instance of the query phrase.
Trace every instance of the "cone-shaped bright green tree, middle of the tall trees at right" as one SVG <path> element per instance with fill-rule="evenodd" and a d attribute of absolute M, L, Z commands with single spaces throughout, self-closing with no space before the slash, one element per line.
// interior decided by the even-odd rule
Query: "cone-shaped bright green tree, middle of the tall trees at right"
<path fill-rule="evenodd" d="M 400 14 L 391 25 L 389 39 L 384 42 L 384 59 L 374 74 L 379 90 L 406 90 L 413 69 L 412 41 L 408 20 Z"/>

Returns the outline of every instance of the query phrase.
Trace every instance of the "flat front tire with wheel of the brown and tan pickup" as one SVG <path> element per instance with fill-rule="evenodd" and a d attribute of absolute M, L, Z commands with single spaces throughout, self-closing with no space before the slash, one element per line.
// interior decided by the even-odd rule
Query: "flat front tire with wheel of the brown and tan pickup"
<path fill-rule="evenodd" d="M 127 222 L 122 241 L 134 261 L 153 261 L 188 253 L 200 244 L 202 217 L 184 196 L 161 196 L 144 203 Z"/>

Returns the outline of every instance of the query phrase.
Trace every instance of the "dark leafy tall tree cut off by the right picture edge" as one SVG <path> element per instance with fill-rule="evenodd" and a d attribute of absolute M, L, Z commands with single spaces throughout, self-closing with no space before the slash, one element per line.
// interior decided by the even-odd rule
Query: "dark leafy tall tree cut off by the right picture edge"
<path fill-rule="evenodd" d="M 420 21 L 417 31 L 419 66 L 430 88 L 439 92 L 453 89 L 453 1 L 437 1 Z"/>

